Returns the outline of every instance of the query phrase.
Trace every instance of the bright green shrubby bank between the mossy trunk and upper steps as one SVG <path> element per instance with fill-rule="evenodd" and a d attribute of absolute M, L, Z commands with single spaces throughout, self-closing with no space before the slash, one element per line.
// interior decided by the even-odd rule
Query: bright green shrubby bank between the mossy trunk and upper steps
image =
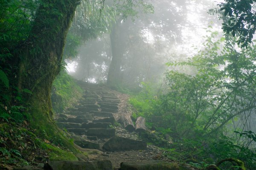
<path fill-rule="evenodd" d="M 79 99 L 82 89 L 76 84 L 67 72 L 62 71 L 52 85 L 52 108 L 55 112 L 61 113 L 65 108 L 75 104 Z"/>

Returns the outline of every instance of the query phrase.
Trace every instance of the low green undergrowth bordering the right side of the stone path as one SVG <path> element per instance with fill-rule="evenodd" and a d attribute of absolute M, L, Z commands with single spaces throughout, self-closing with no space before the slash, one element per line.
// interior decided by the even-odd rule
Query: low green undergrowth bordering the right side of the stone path
<path fill-rule="evenodd" d="M 155 139 L 149 139 L 151 136 L 141 136 L 147 142 L 158 145 L 163 150 L 163 155 L 175 161 L 183 161 L 189 163 L 193 167 L 204 169 L 209 164 L 216 164 L 218 161 L 227 158 L 236 158 L 244 161 L 247 170 L 256 169 L 256 148 L 249 147 L 245 143 L 238 143 L 235 140 L 236 134 L 241 138 L 240 141 L 256 142 L 256 135 L 251 131 L 235 132 L 232 135 L 224 135 L 220 131 L 205 135 L 206 131 L 199 127 L 193 127 L 189 133 L 179 134 L 172 127 L 175 117 L 172 112 L 168 112 L 169 118 L 164 117 L 163 103 L 164 98 L 157 95 L 154 88 L 145 85 L 144 90 L 131 96 L 129 102 L 135 108 L 132 114 L 136 119 L 143 116 L 146 119 L 146 126 L 154 134 Z M 161 107 L 160 107 L 161 106 Z M 159 119 L 158 119 L 159 118 Z M 173 119 L 171 119 L 173 118 Z M 184 125 L 186 122 L 183 123 Z M 193 134 L 193 135 L 191 135 Z M 221 164 L 221 170 L 239 170 L 230 163 Z"/>

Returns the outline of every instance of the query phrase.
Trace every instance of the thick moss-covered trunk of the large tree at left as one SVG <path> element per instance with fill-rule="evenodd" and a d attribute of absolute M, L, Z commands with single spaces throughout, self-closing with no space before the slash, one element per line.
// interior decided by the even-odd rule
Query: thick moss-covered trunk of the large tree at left
<path fill-rule="evenodd" d="M 79 0 L 41 0 L 29 40 L 20 48 L 16 84 L 31 115 L 30 124 L 38 134 L 55 133 L 50 100 L 52 82 L 61 70 L 67 31 Z M 14 85 L 15 86 L 15 85 Z"/>

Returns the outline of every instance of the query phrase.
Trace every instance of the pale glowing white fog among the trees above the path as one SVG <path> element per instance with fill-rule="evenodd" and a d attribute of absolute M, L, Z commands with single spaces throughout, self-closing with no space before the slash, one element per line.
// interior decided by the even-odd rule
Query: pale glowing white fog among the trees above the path
<path fill-rule="evenodd" d="M 209 31 L 222 35 L 217 14 L 209 14 L 210 9 L 217 8 L 217 1 L 148 3 L 154 6 L 153 14 L 138 9 L 137 17 L 117 17 L 115 30 L 81 43 L 78 54 L 66 59 L 69 74 L 85 82 L 106 82 L 114 53 L 118 58 L 115 65 L 112 63 L 115 82 L 134 87 L 143 81 L 160 81 L 166 62 L 193 57 L 198 52 L 195 47 L 201 48 Z M 111 45 L 113 42 L 116 44 Z"/>

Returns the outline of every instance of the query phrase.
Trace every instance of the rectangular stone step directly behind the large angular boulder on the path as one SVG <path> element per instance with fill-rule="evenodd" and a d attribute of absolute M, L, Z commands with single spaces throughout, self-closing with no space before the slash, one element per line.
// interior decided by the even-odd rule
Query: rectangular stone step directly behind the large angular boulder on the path
<path fill-rule="evenodd" d="M 104 128 L 90 128 L 88 129 L 88 136 L 97 136 L 99 138 L 116 136 L 116 129 L 104 129 Z"/>

